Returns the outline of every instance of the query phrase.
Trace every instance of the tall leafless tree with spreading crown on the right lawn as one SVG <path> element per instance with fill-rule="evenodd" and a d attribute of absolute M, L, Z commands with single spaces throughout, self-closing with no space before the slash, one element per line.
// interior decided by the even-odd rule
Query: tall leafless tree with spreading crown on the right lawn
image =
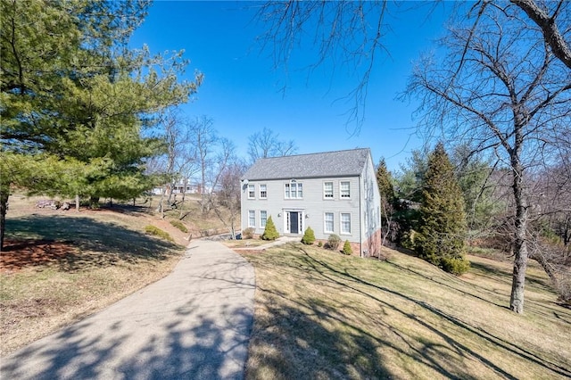
<path fill-rule="evenodd" d="M 424 132 L 490 152 L 509 168 L 515 253 L 509 307 L 521 313 L 533 205 L 527 178 L 553 159 L 561 129 L 571 133 L 571 71 L 516 6 L 485 3 L 474 11 L 450 29 L 442 61 L 418 62 L 408 93 L 419 97 Z M 568 30 L 569 20 L 554 21 Z"/>

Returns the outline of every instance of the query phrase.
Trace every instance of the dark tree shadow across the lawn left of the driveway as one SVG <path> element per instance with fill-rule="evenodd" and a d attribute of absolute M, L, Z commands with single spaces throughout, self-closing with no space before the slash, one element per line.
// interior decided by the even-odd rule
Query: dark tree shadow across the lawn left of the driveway
<path fill-rule="evenodd" d="M 31 215 L 6 220 L 2 267 L 59 266 L 62 271 L 162 260 L 177 244 L 112 222 L 86 217 Z"/>

